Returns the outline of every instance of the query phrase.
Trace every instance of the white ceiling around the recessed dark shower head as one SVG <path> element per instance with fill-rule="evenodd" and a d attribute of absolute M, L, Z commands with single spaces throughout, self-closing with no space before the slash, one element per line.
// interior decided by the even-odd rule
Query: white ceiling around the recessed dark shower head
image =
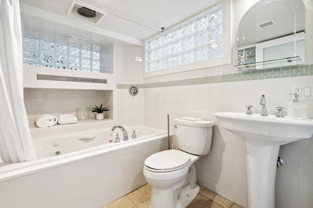
<path fill-rule="evenodd" d="M 194 17 L 219 0 L 79 0 L 107 14 L 97 23 L 68 16 L 74 0 L 20 0 L 24 33 L 61 37 L 71 34 L 101 42 L 118 40 L 140 45 L 142 40 Z M 103 36 L 104 35 L 104 36 Z"/>

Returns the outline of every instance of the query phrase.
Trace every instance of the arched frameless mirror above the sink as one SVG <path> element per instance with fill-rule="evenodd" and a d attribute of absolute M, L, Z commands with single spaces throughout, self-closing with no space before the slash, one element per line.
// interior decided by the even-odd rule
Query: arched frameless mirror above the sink
<path fill-rule="evenodd" d="M 305 63 L 302 0 L 260 0 L 238 26 L 239 71 Z"/>

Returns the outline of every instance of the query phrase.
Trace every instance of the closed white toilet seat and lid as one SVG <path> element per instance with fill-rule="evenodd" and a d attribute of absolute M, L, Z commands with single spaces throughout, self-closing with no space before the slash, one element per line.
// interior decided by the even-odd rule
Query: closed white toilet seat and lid
<path fill-rule="evenodd" d="M 157 152 L 145 160 L 145 169 L 153 172 L 170 172 L 189 165 L 190 154 L 178 150 Z"/>

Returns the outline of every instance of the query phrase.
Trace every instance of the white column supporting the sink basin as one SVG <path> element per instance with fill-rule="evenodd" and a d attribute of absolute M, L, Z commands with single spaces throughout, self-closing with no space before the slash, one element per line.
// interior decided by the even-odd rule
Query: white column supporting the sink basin
<path fill-rule="evenodd" d="M 276 164 L 280 146 L 244 143 L 249 208 L 275 208 Z"/>

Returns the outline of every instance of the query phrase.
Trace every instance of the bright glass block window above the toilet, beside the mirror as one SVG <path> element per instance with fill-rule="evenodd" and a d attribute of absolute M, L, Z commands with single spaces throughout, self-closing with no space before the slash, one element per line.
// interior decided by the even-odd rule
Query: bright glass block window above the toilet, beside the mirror
<path fill-rule="evenodd" d="M 222 5 L 146 40 L 146 72 L 223 56 Z"/>

